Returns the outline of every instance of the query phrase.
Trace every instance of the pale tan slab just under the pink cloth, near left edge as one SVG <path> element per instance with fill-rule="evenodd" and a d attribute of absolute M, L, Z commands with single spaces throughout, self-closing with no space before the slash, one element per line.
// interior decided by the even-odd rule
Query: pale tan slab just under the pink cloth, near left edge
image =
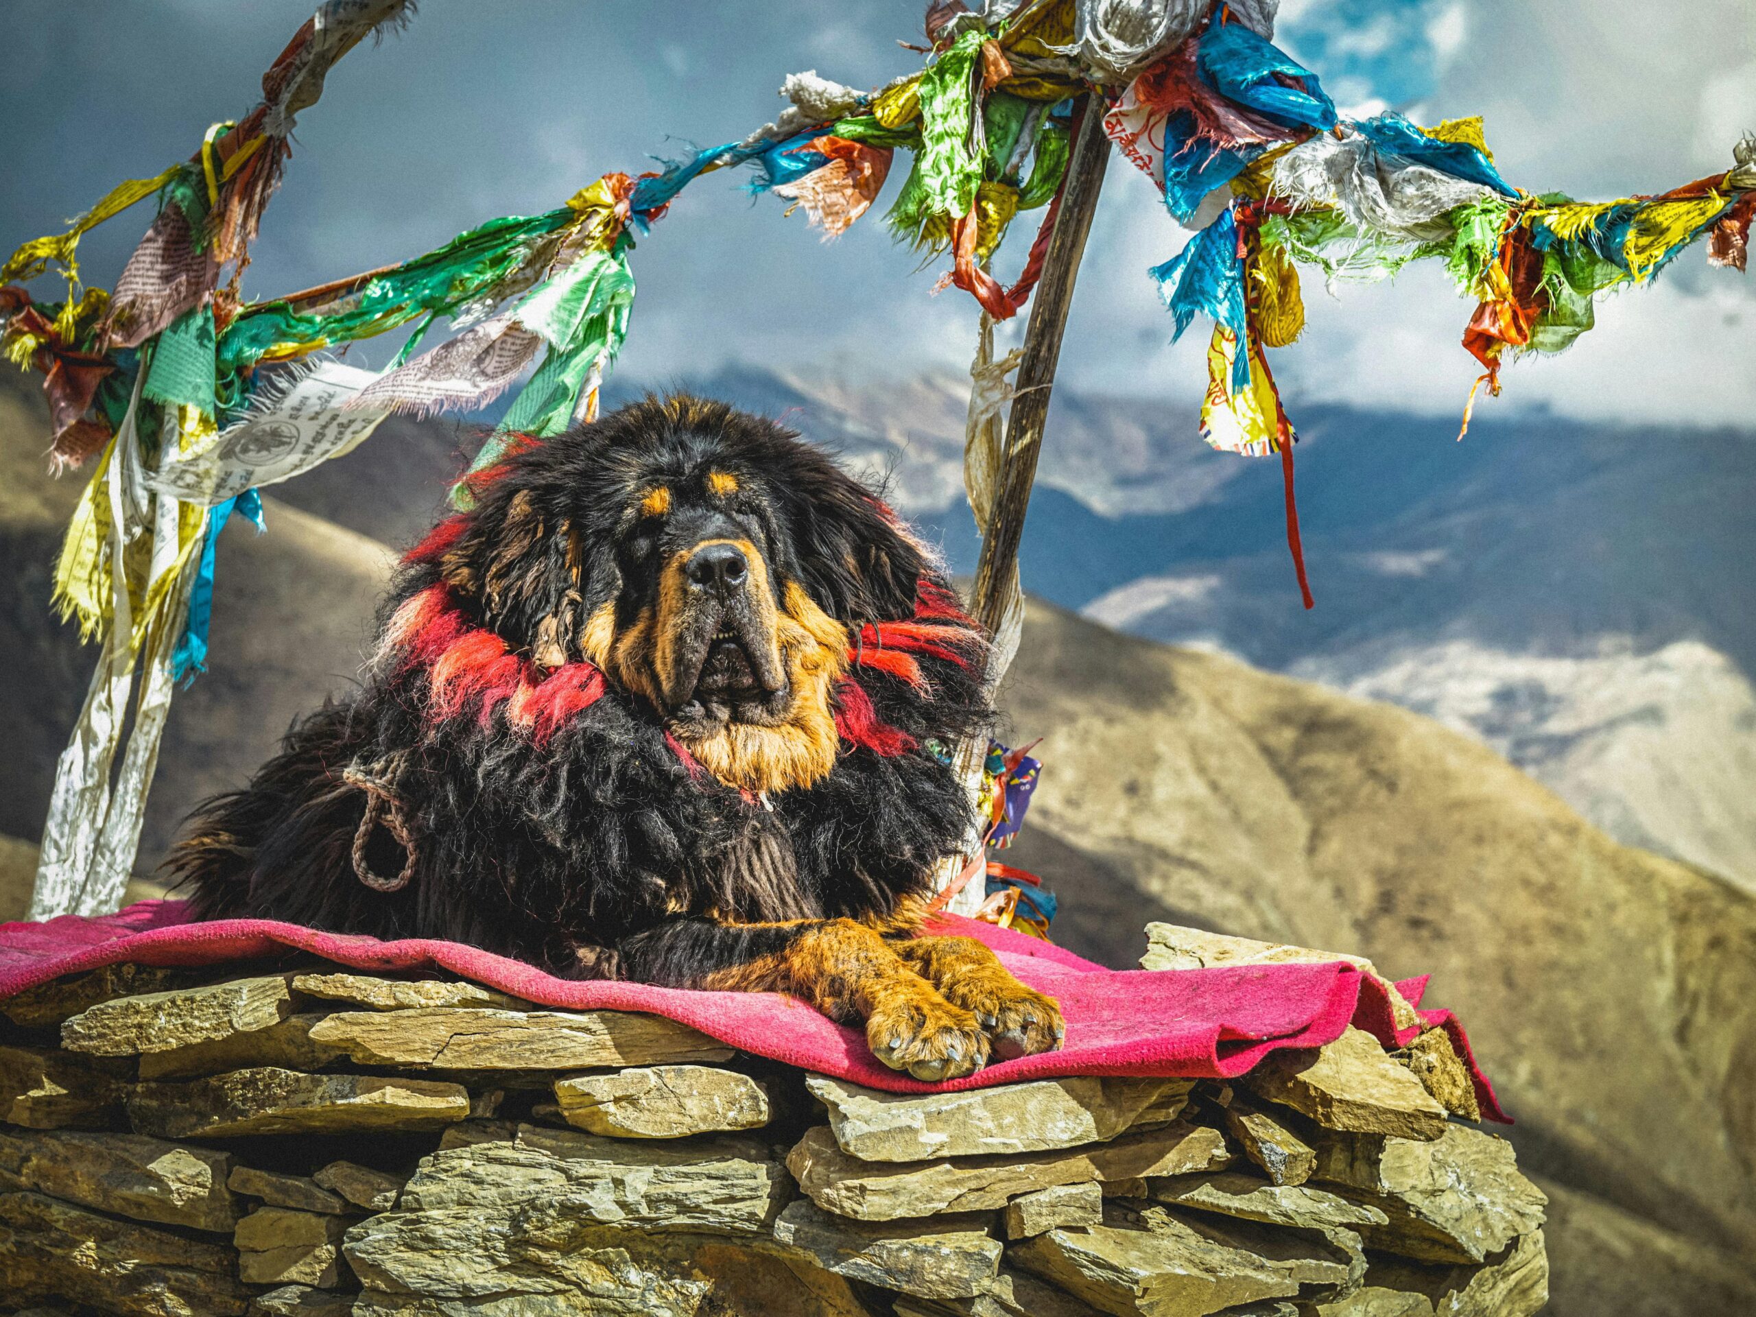
<path fill-rule="evenodd" d="M 61 1047 L 102 1057 L 170 1052 L 279 1024 L 293 1013 L 284 975 L 114 997 L 61 1024 Z"/>

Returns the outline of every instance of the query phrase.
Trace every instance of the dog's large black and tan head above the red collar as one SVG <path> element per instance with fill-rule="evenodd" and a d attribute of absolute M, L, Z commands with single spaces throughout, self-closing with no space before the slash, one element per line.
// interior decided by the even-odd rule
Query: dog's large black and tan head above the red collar
<path fill-rule="evenodd" d="M 780 425 L 648 399 L 516 446 L 411 553 L 530 669 L 588 664 L 716 778 L 806 787 L 866 623 L 917 615 L 925 553 Z"/>

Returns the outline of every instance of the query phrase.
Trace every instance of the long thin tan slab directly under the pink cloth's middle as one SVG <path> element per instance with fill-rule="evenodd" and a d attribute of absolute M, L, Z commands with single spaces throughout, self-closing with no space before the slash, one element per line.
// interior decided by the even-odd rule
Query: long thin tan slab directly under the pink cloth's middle
<path fill-rule="evenodd" d="M 590 1069 L 732 1055 L 687 1024 L 639 1011 L 341 1011 L 318 1024 L 311 1038 L 362 1066 L 418 1069 Z"/>

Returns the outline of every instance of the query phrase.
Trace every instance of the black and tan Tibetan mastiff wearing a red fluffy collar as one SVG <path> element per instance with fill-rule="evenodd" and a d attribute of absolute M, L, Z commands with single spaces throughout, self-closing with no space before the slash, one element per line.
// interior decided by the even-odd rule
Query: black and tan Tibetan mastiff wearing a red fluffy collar
<path fill-rule="evenodd" d="M 169 859 L 200 918 L 444 938 L 583 978 L 792 992 L 922 1080 L 1059 1047 L 920 936 L 973 836 L 987 651 L 943 569 L 795 434 L 646 399 L 469 478 L 362 687 Z"/>

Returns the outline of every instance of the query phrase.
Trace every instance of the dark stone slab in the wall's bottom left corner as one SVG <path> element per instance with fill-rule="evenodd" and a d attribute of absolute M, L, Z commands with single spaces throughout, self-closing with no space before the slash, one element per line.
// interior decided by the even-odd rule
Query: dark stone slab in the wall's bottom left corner
<path fill-rule="evenodd" d="M 230 1245 L 118 1220 L 37 1192 L 0 1192 L 0 1287 L 125 1317 L 242 1317 L 249 1303 Z"/>

